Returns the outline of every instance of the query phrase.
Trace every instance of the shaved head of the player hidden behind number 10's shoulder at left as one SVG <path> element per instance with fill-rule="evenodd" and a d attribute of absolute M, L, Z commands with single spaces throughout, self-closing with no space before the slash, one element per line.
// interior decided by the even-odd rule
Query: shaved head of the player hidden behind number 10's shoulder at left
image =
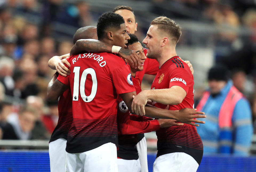
<path fill-rule="evenodd" d="M 95 26 L 85 26 L 79 28 L 73 36 L 73 43 L 75 44 L 76 41 L 79 39 L 92 39 L 94 34 L 96 34 L 96 32 L 94 32 L 94 29 L 96 29 Z"/>

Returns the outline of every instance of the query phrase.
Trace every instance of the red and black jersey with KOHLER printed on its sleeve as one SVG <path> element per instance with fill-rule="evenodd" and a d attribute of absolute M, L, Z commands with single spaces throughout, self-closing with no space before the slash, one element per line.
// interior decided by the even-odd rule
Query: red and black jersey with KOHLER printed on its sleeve
<path fill-rule="evenodd" d="M 194 105 L 194 78 L 186 63 L 178 56 L 167 60 L 159 69 L 151 89 L 168 89 L 172 86 L 182 87 L 187 95 L 180 104 L 170 105 L 169 110 L 193 108 Z M 155 107 L 164 109 L 166 105 L 152 102 Z M 161 128 L 157 134 L 157 157 L 167 153 L 185 152 L 192 156 L 198 163 L 203 156 L 203 144 L 197 129 L 188 124 Z"/>

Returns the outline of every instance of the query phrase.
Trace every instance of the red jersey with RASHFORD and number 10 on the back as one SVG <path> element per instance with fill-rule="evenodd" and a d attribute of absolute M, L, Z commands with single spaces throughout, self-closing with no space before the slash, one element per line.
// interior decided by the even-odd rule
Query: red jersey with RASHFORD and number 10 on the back
<path fill-rule="evenodd" d="M 58 80 L 70 85 L 73 123 L 66 151 L 85 152 L 105 143 L 117 144 L 117 95 L 135 91 L 130 67 L 110 53 L 84 53 L 68 59 L 70 75 Z"/>

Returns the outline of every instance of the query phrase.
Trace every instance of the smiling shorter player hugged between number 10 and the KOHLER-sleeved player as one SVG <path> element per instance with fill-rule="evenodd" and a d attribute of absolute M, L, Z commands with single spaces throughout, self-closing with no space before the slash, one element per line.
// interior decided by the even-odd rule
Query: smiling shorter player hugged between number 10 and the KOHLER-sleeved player
<path fill-rule="evenodd" d="M 136 89 L 136 93 L 141 92 L 141 85 L 138 79 L 134 77 L 138 71 L 143 70 L 146 56 L 144 54 L 144 48 L 139 42 L 138 38 L 134 34 L 128 34 L 130 40 L 128 40 L 127 48 L 138 53 L 141 63 L 138 68 L 131 68 L 131 76 L 133 85 Z M 166 128 L 173 125 L 183 125 L 181 123 L 175 123 L 175 120 L 159 119 L 153 120 L 145 116 L 137 116 L 130 114 L 130 111 L 126 107 L 126 104 L 121 97 L 118 98 L 117 109 L 117 125 L 118 125 L 118 150 L 117 150 L 117 165 L 119 172 L 139 172 L 141 171 L 141 164 L 139 161 L 139 154 L 136 145 L 140 141 L 139 133 L 146 133 L 156 131 L 159 128 Z"/>

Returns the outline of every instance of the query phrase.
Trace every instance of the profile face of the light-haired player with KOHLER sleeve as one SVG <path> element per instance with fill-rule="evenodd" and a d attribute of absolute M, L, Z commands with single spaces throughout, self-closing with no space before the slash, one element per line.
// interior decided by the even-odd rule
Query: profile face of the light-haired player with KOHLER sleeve
<path fill-rule="evenodd" d="M 148 58 L 156 59 L 159 56 L 160 41 L 156 25 L 151 25 L 147 31 L 147 36 L 143 40 L 146 45 Z"/>

